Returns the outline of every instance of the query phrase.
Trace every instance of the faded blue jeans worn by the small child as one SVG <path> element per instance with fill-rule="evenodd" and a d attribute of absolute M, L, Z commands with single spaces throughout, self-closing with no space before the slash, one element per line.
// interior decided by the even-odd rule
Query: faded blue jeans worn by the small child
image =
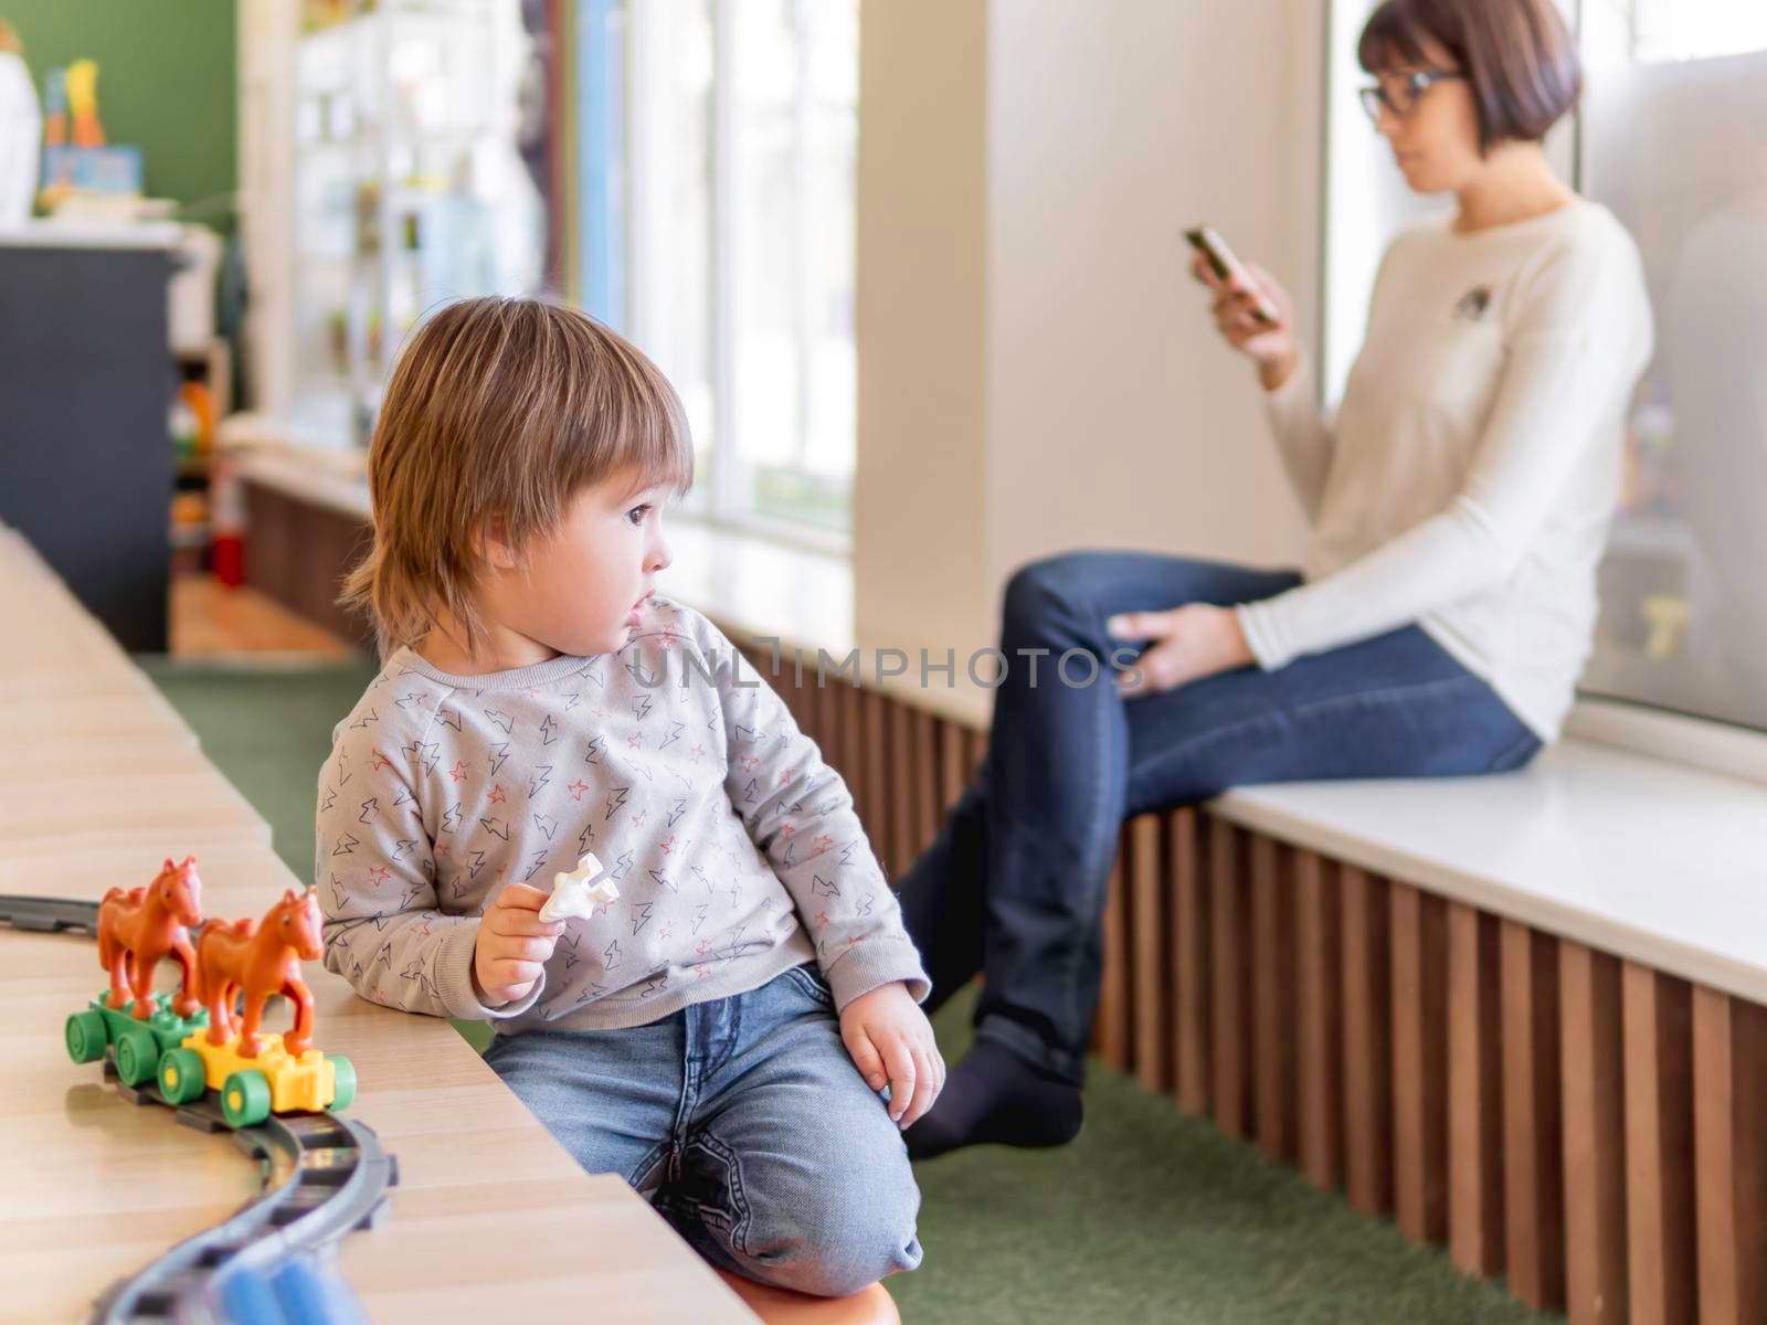
<path fill-rule="evenodd" d="M 719 1268 L 841 1297 L 921 1263 L 908 1150 L 813 965 L 645 1026 L 500 1035 L 484 1058 Z"/>

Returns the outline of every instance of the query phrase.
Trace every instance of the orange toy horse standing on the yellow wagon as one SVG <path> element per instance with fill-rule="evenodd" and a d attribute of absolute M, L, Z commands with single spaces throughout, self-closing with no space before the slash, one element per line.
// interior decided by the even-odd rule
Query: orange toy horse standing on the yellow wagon
<path fill-rule="evenodd" d="M 209 1003 L 209 1042 L 221 1046 L 233 1039 L 233 1003 L 246 995 L 246 1023 L 240 1028 L 239 1055 L 256 1058 L 263 1048 L 258 1026 L 263 1003 L 286 995 L 295 1003 L 295 1028 L 283 1035 L 283 1048 L 300 1056 L 313 1042 L 313 995 L 300 979 L 300 963 L 316 961 L 325 949 L 320 940 L 320 903 L 311 890 L 283 892 L 281 899 L 256 920 L 210 924 L 196 940 L 196 984 Z"/>

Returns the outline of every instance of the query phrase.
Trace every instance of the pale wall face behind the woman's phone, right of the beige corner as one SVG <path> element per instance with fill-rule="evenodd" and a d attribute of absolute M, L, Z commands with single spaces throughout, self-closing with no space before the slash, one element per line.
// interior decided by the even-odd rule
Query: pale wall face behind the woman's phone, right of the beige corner
<path fill-rule="evenodd" d="M 991 571 L 1064 546 L 1235 560 L 1301 516 L 1180 230 L 1316 283 L 1311 0 L 995 5 L 990 30 Z"/>

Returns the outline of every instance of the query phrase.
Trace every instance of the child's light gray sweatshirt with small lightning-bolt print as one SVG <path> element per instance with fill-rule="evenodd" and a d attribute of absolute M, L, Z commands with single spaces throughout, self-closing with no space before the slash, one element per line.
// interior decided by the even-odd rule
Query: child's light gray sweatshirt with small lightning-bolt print
<path fill-rule="evenodd" d="M 320 770 L 325 965 L 500 1032 L 636 1026 L 816 959 L 836 1007 L 928 979 L 839 774 L 705 617 L 652 599 L 617 654 L 449 677 L 387 659 Z M 594 853 L 618 889 L 541 982 L 472 982 L 479 917 Z"/>

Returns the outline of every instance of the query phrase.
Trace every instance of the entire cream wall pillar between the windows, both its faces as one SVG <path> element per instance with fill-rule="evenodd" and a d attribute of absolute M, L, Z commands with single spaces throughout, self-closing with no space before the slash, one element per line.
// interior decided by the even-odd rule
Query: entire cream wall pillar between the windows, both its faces
<path fill-rule="evenodd" d="M 864 643 L 986 645 L 1005 576 L 1066 548 L 1299 558 L 1179 231 L 1214 224 L 1313 327 L 1323 2 L 864 5 Z"/>

